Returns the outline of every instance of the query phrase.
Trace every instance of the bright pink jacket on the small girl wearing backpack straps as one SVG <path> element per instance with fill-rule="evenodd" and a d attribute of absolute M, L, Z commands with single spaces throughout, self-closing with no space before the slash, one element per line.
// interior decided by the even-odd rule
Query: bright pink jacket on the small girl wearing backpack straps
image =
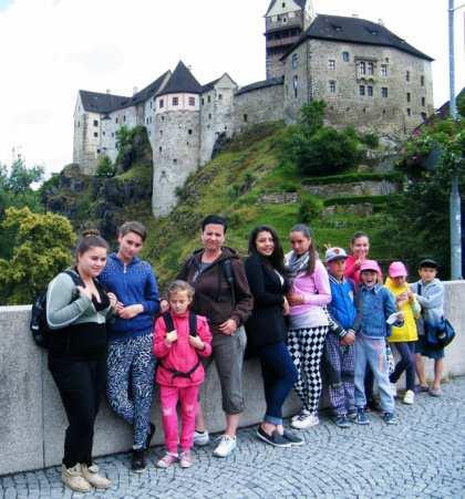
<path fill-rule="evenodd" d="M 205 344 L 204 350 L 194 349 L 189 343 L 189 315 L 172 314 L 175 330 L 177 331 L 177 340 L 168 346 L 165 343 L 166 325 L 163 316 L 155 322 L 154 332 L 154 354 L 158 358 L 155 380 L 158 385 L 164 386 L 195 386 L 200 385 L 205 378 L 204 366 L 198 367 L 190 374 L 190 377 L 173 376 L 168 370 L 189 372 L 199 361 L 199 356 L 208 357 L 211 354 L 211 333 L 207 319 L 197 315 L 197 334 Z M 167 367 L 167 368 L 166 368 Z"/>

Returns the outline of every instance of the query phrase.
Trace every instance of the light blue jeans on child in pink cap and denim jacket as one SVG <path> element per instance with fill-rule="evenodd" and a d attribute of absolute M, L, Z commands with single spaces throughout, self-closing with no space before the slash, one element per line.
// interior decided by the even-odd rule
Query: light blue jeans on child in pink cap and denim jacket
<path fill-rule="evenodd" d="M 378 382 L 381 408 L 385 413 L 394 413 L 395 406 L 389 381 L 385 339 L 368 337 L 359 333 L 355 340 L 355 406 L 358 408 L 366 405 L 364 391 L 366 364 L 370 365 L 373 377 Z"/>

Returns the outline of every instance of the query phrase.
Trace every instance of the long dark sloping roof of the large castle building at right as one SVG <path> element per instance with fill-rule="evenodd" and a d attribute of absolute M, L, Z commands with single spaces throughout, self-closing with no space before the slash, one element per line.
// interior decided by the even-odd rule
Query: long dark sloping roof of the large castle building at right
<path fill-rule="evenodd" d="M 297 46 L 308 39 L 331 40 L 335 42 L 361 43 L 366 45 L 382 45 L 407 52 L 426 61 L 433 61 L 430 55 L 410 45 L 382 24 L 366 19 L 347 18 L 342 15 L 318 14 L 300 39 L 285 53 L 286 59 Z"/>

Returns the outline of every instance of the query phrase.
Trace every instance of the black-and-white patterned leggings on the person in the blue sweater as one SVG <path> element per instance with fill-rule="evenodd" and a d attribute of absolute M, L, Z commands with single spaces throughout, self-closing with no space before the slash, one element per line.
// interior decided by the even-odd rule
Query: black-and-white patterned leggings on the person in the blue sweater
<path fill-rule="evenodd" d="M 154 391 L 153 334 L 113 341 L 106 360 L 106 396 L 134 429 L 134 449 L 146 447 Z"/>

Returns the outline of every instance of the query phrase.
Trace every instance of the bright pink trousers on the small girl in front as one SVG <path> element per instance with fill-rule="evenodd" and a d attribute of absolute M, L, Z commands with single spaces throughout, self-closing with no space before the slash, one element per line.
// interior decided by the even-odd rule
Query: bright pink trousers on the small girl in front
<path fill-rule="evenodd" d="M 199 386 L 161 386 L 163 432 L 166 450 L 177 454 L 177 403 L 180 403 L 180 438 L 182 451 L 190 450 L 194 445 L 195 413 L 198 404 Z"/>

